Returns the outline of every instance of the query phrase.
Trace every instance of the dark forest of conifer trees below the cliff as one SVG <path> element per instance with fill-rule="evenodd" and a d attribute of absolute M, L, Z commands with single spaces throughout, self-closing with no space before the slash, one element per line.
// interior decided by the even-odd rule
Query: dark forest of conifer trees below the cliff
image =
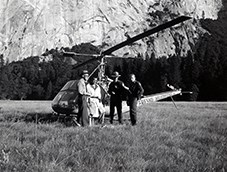
<path fill-rule="evenodd" d="M 143 58 L 107 59 L 106 74 L 115 70 L 121 73 L 121 80 L 128 82 L 128 74 L 135 73 L 141 81 L 145 94 L 166 91 L 166 84 L 192 95 L 181 96 L 186 101 L 227 101 L 227 13 L 220 12 L 219 19 L 203 20 L 202 26 L 209 31 L 188 52 L 187 57 L 179 55 L 156 59 L 148 54 Z M 99 53 L 91 44 L 81 44 L 65 51 Z M 40 61 L 39 57 L 29 57 L 23 61 L 6 63 L 0 56 L 0 99 L 11 100 L 51 100 L 69 81 L 79 78 L 83 69 L 91 72 L 97 62 L 73 69 L 72 59 L 63 56 L 58 49 L 47 50 L 43 56 L 50 61 Z M 86 60 L 78 57 L 79 62 Z M 145 60 L 144 60 L 145 59 Z"/>

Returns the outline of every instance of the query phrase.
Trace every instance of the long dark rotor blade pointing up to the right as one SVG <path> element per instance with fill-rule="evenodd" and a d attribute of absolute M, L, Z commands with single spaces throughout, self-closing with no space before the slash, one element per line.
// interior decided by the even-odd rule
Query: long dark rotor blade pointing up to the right
<path fill-rule="evenodd" d="M 149 35 L 152 35 L 154 33 L 157 33 L 157 32 L 159 32 L 161 30 L 164 30 L 166 28 L 169 28 L 171 26 L 174 26 L 174 25 L 176 25 L 178 23 L 181 23 L 181 22 L 183 22 L 185 20 L 189 20 L 189 19 L 191 19 L 191 17 L 188 17 L 188 16 L 180 16 L 180 17 L 178 17 L 176 19 L 173 19 L 173 20 L 171 20 L 171 21 L 169 21 L 167 23 L 161 24 L 161 25 L 159 25 L 159 26 L 157 26 L 155 28 L 152 28 L 152 29 L 150 29 L 148 31 L 145 31 L 145 32 L 139 34 L 139 35 L 136 35 L 136 36 L 134 36 L 132 38 L 129 38 L 126 41 L 123 41 L 123 42 L 121 42 L 121 43 L 119 43 L 119 44 L 117 44 L 117 45 L 115 45 L 115 46 L 113 46 L 113 47 L 111 47 L 111 48 L 103 51 L 102 52 L 102 55 L 109 55 L 112 52 L 114 52 L 114 51 L 116 51 L 116 50 L 118 50 L 118 49 L 120 49 L 120 48 L 122 48 L 122 47 L 124 47 L 126 45 L 129 45 L 129 44 L 131 44 L 131 43 L 133 43 L 135 41 L 138 41 L 139 39 L 142 39 L 144 37 L 147 37 Z"/>

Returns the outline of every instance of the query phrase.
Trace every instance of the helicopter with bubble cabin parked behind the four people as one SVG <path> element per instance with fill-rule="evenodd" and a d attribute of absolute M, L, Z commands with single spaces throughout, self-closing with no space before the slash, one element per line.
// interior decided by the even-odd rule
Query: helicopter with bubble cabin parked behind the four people
<path fill-rule="evenodd" d="M 91 72 L 89 77 L 91 77 L 96 71 L 98 71 L 98 84 L 101 87 L 101 92 L 102 92 L 102 103 L 106 107 L 106 114 L 109 113 L 109 99 L 108 99 L 108 84 L 112 81 L 110 78 L 108 78 L 105 75 L 105 65 L 106 65 L 106 58 L 114 58 L 115 56 L 112 55 L 112 53 L 124 46 L 130 45 L 135 41 L 138 41 L 144 37 L 150 36 L 154 33 L 157 33 L 161 30 L 164 30 L 166 28 L 172 27 L 176 24 L 182 23 L 186 20 L 191 19 L 191 17 L 188 16 L 180 16 L 178 18 L 175 18 L 169 22 L 166 22 L 164 24 L 158 25 L 150 30 L 147 30 L 141 34 L 138 34 L 134 37 L 128 37 L 127 40 L 108 48 L 105 51 L 102 51 L 100 54 L 81 54 L 81 53 L 75 53 L 75 52 L 65 52 L 63 50 L 63 55 L 65 57 L 75 57 L 75 56 L 87 56 L 87 57 L 92 57 L 91 59 L 82 62 L 76 66 L 73 67 L 73 69 L 77 69 L 81 66 L 84 66 L 88 63 L 98 61 L 99 64 L 98 66 Z M 55 96 L 55 98 L 52 101 L 52 109 L 54 110 L 55 113 L 58 115 L 60 114 L 66 114 L 66 116 L 69 115 L 75 115 L 78 113 L 78 105 L 76 103 L 77 99 L 77 83 L 78 80 L 70 80 L 68 81 L 63 88 L 59 91 L 59 93 Z M 181 89 L 175 89 L 173 86 L 170 86 L 167 84 L 167 87 L 170 88 L 170 91 L 162 92 L 162 93 L 157 93 L 153 95 L 148 95 L 145 97 L 142 97 L 141 100 L 138 101 L 138 106 L 141 106 L 143 104 L 153 102 L 153 101 L 158 101 L 165 99 L 167 97 L 170 97 L 171 100 L 173 101 L 173 96 L 182 94 Z M 174 101 L 173 101 L 174 103 Z M 175 103 L 174 106 L 176 107 Z M 176 107 L 177 108 L 177 107 Z M 122 112 L 125 113 L 128 111 L 128 107 L 125 102 L 123 102 L 122 105 Z M 76 122 L 76 120 L 74 120 Z"/>

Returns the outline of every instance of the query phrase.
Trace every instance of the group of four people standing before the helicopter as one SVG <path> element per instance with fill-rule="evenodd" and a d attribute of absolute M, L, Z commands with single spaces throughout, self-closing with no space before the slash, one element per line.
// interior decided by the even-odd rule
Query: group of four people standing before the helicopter
<path fill-rule="evenodd" d="M 113 81 L 109 84 L 107 91 L 107 94 L 110 96 L 110 124 L 113 124 L 115 107 L 117 109 L 118 121 L 120 124 L 123 124 L 122 101 L 126 92 L 131 124 L 136 125 L 137 101 L 141 98 L 144 90 L 141 83 L 136 80 L 135 74 L 130 74 L 130 84 L 128 86 L 119 80 L 120 76 L 117 71 L 112 74 Z M 101 88 L 97 84 L 97 78 L 92 78 L 90 83 L 88 83 L 88 78 L 88 71 L 84 70 L 77 84 L 79 108 L 77 122 L 82 126 L 89 125 L 89 115 L 98 118 L 105 114 L 105 108 L 101 101 Z"/>

